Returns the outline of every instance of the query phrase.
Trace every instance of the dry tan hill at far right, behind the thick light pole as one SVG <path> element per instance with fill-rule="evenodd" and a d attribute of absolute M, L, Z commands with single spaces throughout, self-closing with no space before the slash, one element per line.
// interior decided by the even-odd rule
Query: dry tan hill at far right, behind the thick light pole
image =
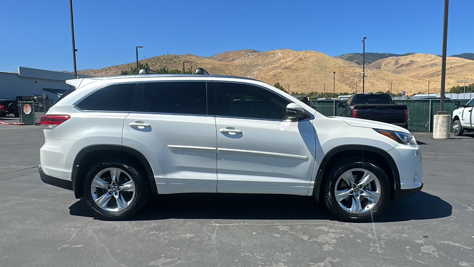
<path fill-rule="evenodd" d="M 423 81 L 424 86 L 419 91 L 439 92 L 441 88 L 441 57 L 431 54 L 412 54 L 403 57 L 387 57 L 371 63 L 369 69 L 390 71 L 399 76 L 405 76 L 418 81 Z M 446 59 L 446 88 L 464 85 L 464 78 L 474 82 L 474 60 L 460 57 L 447 57 Z M 433 91 L 432 91 L 433 90 Z"/>

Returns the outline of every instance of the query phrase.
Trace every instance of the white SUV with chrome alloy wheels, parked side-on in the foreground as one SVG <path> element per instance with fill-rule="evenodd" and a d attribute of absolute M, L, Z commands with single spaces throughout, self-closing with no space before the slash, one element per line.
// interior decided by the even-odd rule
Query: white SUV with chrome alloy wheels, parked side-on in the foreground
<path fill-rule="evenodd" d="M 233 76 L 133 75 L 66 81 L 42 117 L 39 172 L 124 219 L 150 194 L 312 196 L 365 221 L 421 190 L 421 155 L 398 126 L 326 117 L 263 82 Z"/>

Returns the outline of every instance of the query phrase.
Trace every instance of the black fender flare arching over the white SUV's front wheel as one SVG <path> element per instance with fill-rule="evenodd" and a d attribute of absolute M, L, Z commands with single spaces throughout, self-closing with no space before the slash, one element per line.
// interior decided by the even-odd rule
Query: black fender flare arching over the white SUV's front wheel
<path fill-rule="evenodd" d="M 367 151 L 367 152 L 372 152 L 372 153 L 377 153 L 385 159 L 386 162 L 388 162 L 390 168 L 392 169 L 392 175 L 393 175 L 393 180 L 395 183 L 395 188 L 393 193 L 396 194 L 396 192 L 400 191 L 400 173 L 398 172 L 398 167 L 397 163 L 393 160 L 392 156 L 384 151 L 383 149 L 380 149 L 378 147 L 374 146 L 368 146 L 368 145 L 361 145 L 361 144 L 348 144 L 348 145 L 341 145 L 337 146 L 333 149 L 331 149 L 326 155 L 324 156 L 323 160 L 319 164 L 319 169 L 318 169 L 318 175 L 316 176 L 316 180 L 314 181 L 314 191 L 313 191 L 313 196 L 316 198 L 316 200 L 319 200 L 319 192 L 321 190 L 321 185 L 323 184 L 324 180 L 324 171 L 326 169 L 326 166 L 328 165 L 329 160 L 336 155 L 337 153 L 344 152 L 344 151 Z"/>

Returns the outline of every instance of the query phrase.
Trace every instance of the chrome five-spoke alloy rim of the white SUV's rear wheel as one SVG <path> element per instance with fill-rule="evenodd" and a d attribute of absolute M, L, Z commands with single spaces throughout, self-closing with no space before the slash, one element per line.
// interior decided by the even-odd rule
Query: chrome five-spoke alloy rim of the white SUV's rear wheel
<path fill-rule="evenodd" d="M 135 200 L 135 182 L 119 168 L 101 170 L 92 179 L 92 199 L 102 210 L 118 212 Z"/>

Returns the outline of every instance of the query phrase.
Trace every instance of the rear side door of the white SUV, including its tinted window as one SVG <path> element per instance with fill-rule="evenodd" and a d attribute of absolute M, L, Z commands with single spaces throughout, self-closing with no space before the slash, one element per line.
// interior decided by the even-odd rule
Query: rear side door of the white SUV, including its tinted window
<path fill-rule="evenodd" d="M 141 83 L 123 145 L 142 153 L 158 193 L 216 192 L 217 136 L 210 82 Z"/>

